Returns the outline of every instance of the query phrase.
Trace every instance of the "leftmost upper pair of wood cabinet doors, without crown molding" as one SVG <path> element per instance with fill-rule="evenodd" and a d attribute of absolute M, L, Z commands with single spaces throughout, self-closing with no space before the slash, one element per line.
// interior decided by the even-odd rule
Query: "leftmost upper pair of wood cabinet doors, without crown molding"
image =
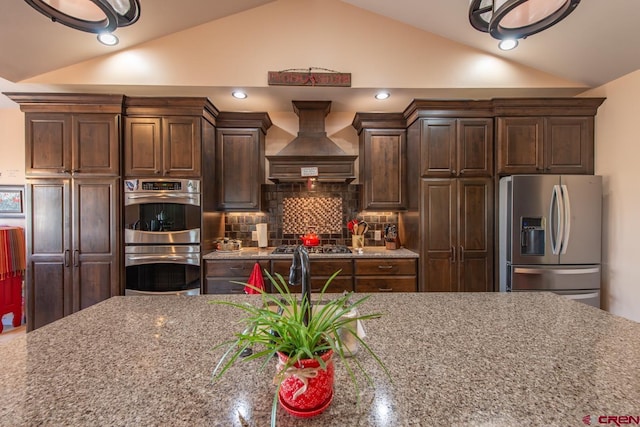
<path fill-rule="evenodd" d="M 27 113 L 28 176 L 120 174 L 120 115 Z"/>

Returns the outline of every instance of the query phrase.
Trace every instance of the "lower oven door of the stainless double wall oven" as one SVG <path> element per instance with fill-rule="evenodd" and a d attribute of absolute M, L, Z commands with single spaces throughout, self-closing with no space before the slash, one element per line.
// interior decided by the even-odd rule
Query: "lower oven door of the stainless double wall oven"
<path fill-rule="evenodd" d="M 125 247 L 125 295 L 200 294 L 200 246 Z"/>

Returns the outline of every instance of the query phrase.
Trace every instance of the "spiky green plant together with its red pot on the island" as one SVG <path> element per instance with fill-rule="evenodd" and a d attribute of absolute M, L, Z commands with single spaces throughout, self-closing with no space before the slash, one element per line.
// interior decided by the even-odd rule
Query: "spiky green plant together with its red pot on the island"
<path fill-rule="evenodd" d="M 327 287 L 340 271 L 327 280 L 320 293 L 321 302 L 313 306 L 310 297 L 305 298 L 304 292 L 301 301 L 297 294 L 291 293 L 281 275 L 273 277 L 268 271 L 265 273 L 275 293 L 246 285 L 261 295 L 261 305 L 211 301 L 236 307 L 246 313 L 242 319 L 244 330 L 215 347 L 228 348 L 214 369 L 214 380 L 238 360 L 263 358 L 266 359 L 264 367 L 268 359 L 276 357 L 278 363 L 274 384 L 277 387 L 271 410 L 273 427 L 276 424 L 278 402 L 287 412 L 298 417 L 320 414 L 329 406 L 333 398 L 333 358 L 336 356 L 342 361 L 359 394 L 355 370 L 348 360 L 351 354 L 347 338 L 371 354 L 388 375 L 383 362 L 358 335 L 357 328 L 353 327 L 357 321 L 381 316 L 379 313 L 363 315 L 356 311 L 369 296 L 351 302 L 352 294 L 345 293 L 324 301 Z M 354 364 L 372 384 L 364 366 L 357 360 Z"/>

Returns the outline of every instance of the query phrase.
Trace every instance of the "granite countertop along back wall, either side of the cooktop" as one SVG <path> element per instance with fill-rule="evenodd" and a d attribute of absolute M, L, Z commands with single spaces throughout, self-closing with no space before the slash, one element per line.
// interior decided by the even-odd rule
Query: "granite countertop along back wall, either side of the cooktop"
<path fill-rule="evenodd" d="M 242 248 L 239 251 L 213 251 L 202 256 L 202 259 L 225 260 L 225 259 L 282 259 L 291 258 L 293 254 L 273 254 L 275 248 Z M 387 250 L 384 246 L 369 246 L 362 248 L 362 253 L 353 250 L 350 254 L 309 254 L 310 259 L 314 258 L 418 258 L 416 252 L 409 249 L 400 248 Z"/>

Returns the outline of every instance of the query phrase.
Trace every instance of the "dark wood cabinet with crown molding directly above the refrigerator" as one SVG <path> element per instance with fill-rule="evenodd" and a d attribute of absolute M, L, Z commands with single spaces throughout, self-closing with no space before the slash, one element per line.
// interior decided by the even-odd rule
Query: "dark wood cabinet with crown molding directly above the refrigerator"
<path fill-rule="evenodd" d="M 594 116 L 602 98 L 500 101 L 499 175 L 594 173 Z"/>

